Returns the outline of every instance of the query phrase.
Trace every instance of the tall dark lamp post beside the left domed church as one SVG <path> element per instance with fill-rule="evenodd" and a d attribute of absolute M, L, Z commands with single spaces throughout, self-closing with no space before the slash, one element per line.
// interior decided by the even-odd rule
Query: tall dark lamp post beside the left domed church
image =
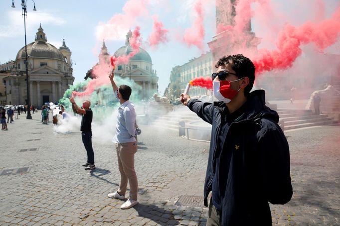
<path fill-rule="evenodd" d="M 36 11 L 35 2 L 34 3 L 33 11 Z M 26 16 L 27 16 L 27 0 L 21 0 L 21 8 L 22 8 L 22 15 L 23 15 L 23 24 L 24 24 L 24 31 L 25 31 L 25 66 L 26 66 L 26 89 L 27 89 L 27 116 L 26 119 L 32 119 L 32 115 L 30 112 L 30 95 L 29 95 L 29 78 L 28 78 L 28 55 L 27 55 L 27 42 L 26 42 Z M 12 8 L 15 8 L 14 0 L 12 0 Z"/>

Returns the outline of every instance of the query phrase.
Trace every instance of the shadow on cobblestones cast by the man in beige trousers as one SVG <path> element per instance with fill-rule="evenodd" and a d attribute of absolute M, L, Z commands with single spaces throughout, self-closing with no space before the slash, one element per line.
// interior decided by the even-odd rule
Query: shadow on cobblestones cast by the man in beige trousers
<path fill-rule="evenodd" d="M 150 219 L 161 226 L 179 225 L 177 220 L 174 220 L 173 214 L 169 210 L 165 210 L 156 205 L 138 204 L 133 207 L 138 216 Z"/>

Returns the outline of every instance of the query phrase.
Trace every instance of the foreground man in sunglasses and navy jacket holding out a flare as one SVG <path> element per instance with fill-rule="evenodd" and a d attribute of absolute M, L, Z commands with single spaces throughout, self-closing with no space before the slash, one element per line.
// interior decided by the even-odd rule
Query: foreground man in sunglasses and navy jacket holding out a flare
<path fill-rule="evenodd" d="M 265 105 L 264 90 L 250 93 L 255 66 L 241 54 L 219 59 L 212 74 L 218 102 L 181 94 L 180 101 L 212 124 L 204 205 L 212 192 L 207 226 L 272 225 L 268 202 L 293 195 L 287 139 L 279 115 Z"/>

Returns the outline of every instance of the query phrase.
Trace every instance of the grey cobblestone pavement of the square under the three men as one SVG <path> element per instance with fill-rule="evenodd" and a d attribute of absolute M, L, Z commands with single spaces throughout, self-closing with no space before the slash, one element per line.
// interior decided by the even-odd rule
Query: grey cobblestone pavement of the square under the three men
<path fill-rule="evenodd" d="M 123 201 L 107 197 L 120 179 L 114 144 L 94 135 L 97 168 L 85 171 L 80 132 L 54 134 L 52 124 L 41 124 L 40 112 L 32 116 L 20 115 L 0 131 L 2 174 L 29 167 L 27 173 L 0 176 L 0 225 L 205 225 L 206 208 L 175 203 L 180 196 L 203 195 L 208 143 L 140 125 L 140 204 L 121 210 Z M 287 205 L 271 205 L 273 225 L 340 225 L 340 127 L 286 135 L 294 196 Z M 261 216 L 254 225 L 261 225 Z"/>

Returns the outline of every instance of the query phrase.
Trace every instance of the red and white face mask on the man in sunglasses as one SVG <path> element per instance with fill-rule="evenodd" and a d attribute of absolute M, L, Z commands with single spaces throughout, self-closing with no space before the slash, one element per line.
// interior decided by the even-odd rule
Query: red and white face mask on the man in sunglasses
<path fill-rule="evenodd" d="M 224 103 L 229 103 L 240 91 L 238 90 L 233 90 L 230 87 L 230 83 L 239 81 L 243 78 L 234 80 L 234 81 L 213 81 L 212 82 L 212 87 L 214 90 L 214 95 L 217 98 L 218 101 L 223 101 Z"/>

